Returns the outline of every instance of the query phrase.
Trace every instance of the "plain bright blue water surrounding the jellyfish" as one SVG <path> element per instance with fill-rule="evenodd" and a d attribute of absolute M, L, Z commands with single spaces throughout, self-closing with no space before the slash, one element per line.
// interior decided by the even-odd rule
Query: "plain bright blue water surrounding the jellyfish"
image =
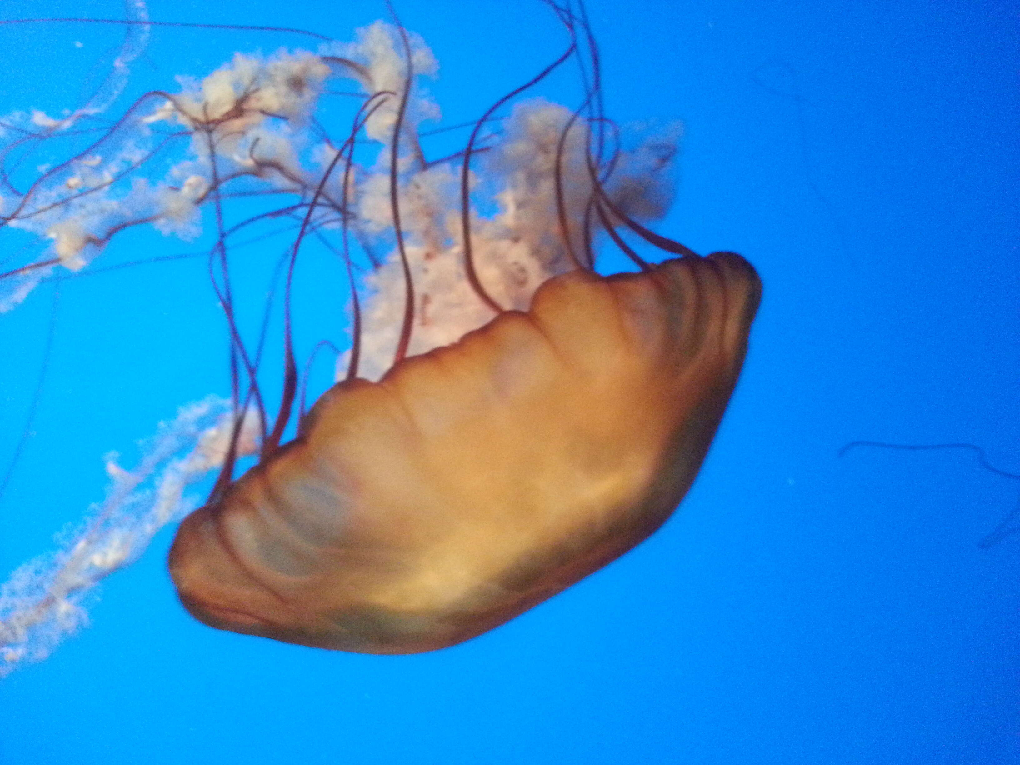
<path fill-rule="evenodd" d="M 430 87 L 451 123 L 563 47 L 537 0 L 397 9 L 441 62 Z M 0 681 L 0 764 L 1020 763 L 1020 532 L 979 546 L 1018 507 L 1020 480 L 960 450 L 837 457 L 855 440 L 967 442 L 1020 472 L 1020 7 L 589 11 L 608 112 L 685 125 L 658 228 L 745 254 L 765 285 L 740 386 L 680 510 L 511 623 L 413 657 L 197 623 L 164 570 L 164 529 L 104 583 L 90 628 Z M 0 6 L 5 18 L 81 12 Z M 349 39 L 386 9 L 151 0 L 150 13 Z M 72 103 L 118 35 L 0 28 L 0 112 Z M 164 30 L 135 74 L 142 90 L 170 89 L 235 50 L 285 44 L 298 41 Z M 139 258 L 187 249 L 133 246 Z M 51 285 L 0 316 L 0 466 L 52 305 Z M 0 501 L 0 577 L 102 498 L 105 452 L 130 456 L 180 404 L 226 392 L 216 311 L 201 259 L 61 284 L 35 435 Z"/>

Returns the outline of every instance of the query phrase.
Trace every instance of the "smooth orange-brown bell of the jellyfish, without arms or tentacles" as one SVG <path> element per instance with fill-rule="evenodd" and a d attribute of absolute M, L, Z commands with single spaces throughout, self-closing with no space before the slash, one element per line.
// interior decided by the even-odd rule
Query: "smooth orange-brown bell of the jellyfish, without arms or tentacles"
<path fill-rule="evenodd" d="M 215 627 L 407 654 L 478 635 L 655 531 L 701 466 L 760 295 L 737 255 L 575 270 L 453 345 L 343 381 L 181 525 Z"/>

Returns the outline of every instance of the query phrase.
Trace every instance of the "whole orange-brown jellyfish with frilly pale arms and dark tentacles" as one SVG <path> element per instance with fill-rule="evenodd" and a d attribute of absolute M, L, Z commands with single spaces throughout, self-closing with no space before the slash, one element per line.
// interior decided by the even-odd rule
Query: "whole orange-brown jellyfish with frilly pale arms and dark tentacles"
<path fill-rule="evenodd" d="M 672 514 L 736 384 L 761 285 L 740 255 L 702 257 L 648 227 L 668 208 L 677 131 L 633 138 L 608 119 L 583 6 L 546 5 L 566 31 L 564 53 L 442 159 L 421 143 L 422 123 L 439 116 L 418 85 L 435 58 L 394 15 L 353 43 L 237 54 L 181 92 L 150 92 L 4 210 L 8 226 L 52 242 L 49 257 L 7 272 L 7 306 L 54 268 L 95 268 L 126 227 L 187 238 L 204 209 L 215 212 L 208 262 L 231 341 L 230 398 L 183 410 L 168 431 L 185 435 L 160 455 L 186 454 L 163 472 L 108 467 L 123 488 L 90 527 L 100 531 L 75 543 L 93 557 L 68 558 L 75 571 L 92 566 L 72 585 L 140 554 L 137 540 L 117 538 L 119 554 L 96 563 L 126 516 L 148 519 L 143 542 L 186 516 L 168 568 L 199 620 L 318 648 L 418 653 L 551 598 Z M 143 20 L 134 27 L 148 29 Z M 580 72 L 577 108 L 528 99 L 567 62 Z M 356 108 L 338 135 L 315 110 L 342 79 L 357 93 L 335 93 Z M 55 132 L 83 114 L 36 122 Z M 187 156 L 140 183 L 166 145 Z M 293 202 L 226 222 L 234 200 L 273 195 Z M 277 220 L 293 240 L 274 272 L 283 364 L 270 416 L 275 314 L 267 304 L 246 337 L 231 247 Z M 322 341 L 300 363 L 294 285 L 311 245 L 341 264 L 351 322 L 335 384 L 306 407 L 310 364 L 338 351 Z M 604 245 L 632 269 L 600 272 Z M 185 502 L 185 488 L 212 472 L 206 501 Z M 158 502 L 125 515 L 153 476 Z M 0 597 L 0 638 L 24 644 L 41 614 L 68 601 L 74 586 L 53 583 L 66 570 L 37 586 L 31 618 L 16 612 L 19 631 Z M 38 585 L 33 577 L 22 578 Z"/>

